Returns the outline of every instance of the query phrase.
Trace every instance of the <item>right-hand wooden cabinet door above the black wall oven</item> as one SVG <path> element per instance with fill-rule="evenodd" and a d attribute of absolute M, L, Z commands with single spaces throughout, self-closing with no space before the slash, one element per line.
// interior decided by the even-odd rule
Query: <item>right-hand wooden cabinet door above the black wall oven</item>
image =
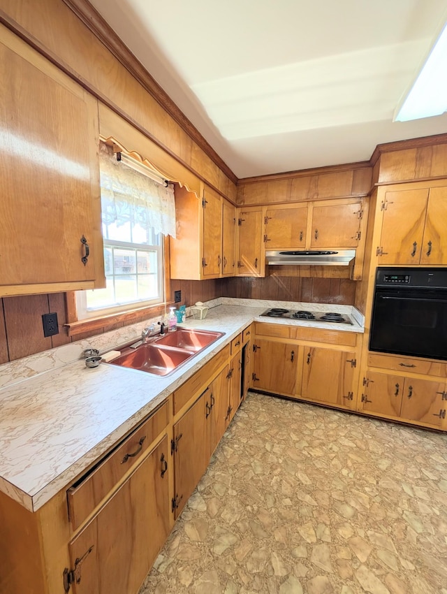
<path fill-rule="evenodd" d="M 432 188 L 428 198 L 421 264 L 447 264 L 447 187 Z"/>

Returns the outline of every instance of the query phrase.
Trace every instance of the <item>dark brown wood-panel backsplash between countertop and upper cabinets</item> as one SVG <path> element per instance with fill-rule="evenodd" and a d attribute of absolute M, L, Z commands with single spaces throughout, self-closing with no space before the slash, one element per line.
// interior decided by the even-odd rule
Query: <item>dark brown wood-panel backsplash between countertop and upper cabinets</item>
<path fill-rule="evenodd" d="M 171 280 L 170 289 L 172 295 L 173 291 L 182 291 L 182 303 L 185 305 L 193 305 L 196 301 L 209 301 L 217 297 L 353 305 L 356 282 L 324 278 L 237 277 L 204 281 Z M 85 333 L 72 339 L 66 335 L 64 328 L 60 328 L 59 334 L 44 338 L 42 314 L 49 312 L 57 312 L 59 326 L 64 325 L 66 313 L 63 293 L 0 299 L 0 363 L 15 361 L 54 347 L 68 345 L 95 334 Z M 146 319 L 147 316 L 143 316 L 141 321 Z M 138 319 L 133 320 L 132 324 L 138 321 Z M 123 324 L 111 324 L 99 333 L 108 332 L 120 326 Z"/>

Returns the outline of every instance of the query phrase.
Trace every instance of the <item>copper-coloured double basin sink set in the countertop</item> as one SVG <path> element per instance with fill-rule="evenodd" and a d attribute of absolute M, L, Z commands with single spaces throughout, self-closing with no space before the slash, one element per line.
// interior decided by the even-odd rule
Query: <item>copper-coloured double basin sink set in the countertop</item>
<path fill-rule="evenodd" d="M 177 328 L 175 332 L 159 335 L 149 339 L 149 342 L 142 342 L 136 348 L 124 347 L 121 349 L 121 355 L 112 359 L 110 363 L 154 375 L 168 375 L 221 338 L 223 334 L 223 332 L 208 330 Z"/>

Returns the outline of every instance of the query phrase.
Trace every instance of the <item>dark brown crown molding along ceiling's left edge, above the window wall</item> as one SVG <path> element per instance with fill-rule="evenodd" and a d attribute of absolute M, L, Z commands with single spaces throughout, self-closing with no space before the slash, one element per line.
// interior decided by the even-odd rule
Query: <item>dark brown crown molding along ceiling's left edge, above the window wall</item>
<path fill-rule="evenodd" d="M 112 54 L 128 70 L 133 78 L 140 82 L 149 94 L 168 112 L 179 126 L 192 138 L 192 140 L 207 154 L 208 157 L 225 173 L 233 183 L 237 178 L 228 165 L 219 157 L 219 154 L 200 134 L 196 126 L 184 115 L 182 110 L 174 103 L 170 96 L 161 88 L 158 82 L 147 72 L 140 61 L 117 36 L 115 31 L 105 22 L 98 11 L 87 0 L 63 0 L 73 10 L 73 13 L 90 29 L 90 31 L 112 52 Z"/>

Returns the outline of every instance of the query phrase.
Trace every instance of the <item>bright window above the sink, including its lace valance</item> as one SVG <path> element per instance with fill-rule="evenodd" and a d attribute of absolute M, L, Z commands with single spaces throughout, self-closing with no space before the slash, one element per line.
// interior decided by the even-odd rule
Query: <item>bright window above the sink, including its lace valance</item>
<path fill-rule="evenodd" d="M 163 303 L 163 235 L 175 232 L 173 186 L 106 145 L 100 154 L 106 287 L 79 291 L 78 319 Z"/>

